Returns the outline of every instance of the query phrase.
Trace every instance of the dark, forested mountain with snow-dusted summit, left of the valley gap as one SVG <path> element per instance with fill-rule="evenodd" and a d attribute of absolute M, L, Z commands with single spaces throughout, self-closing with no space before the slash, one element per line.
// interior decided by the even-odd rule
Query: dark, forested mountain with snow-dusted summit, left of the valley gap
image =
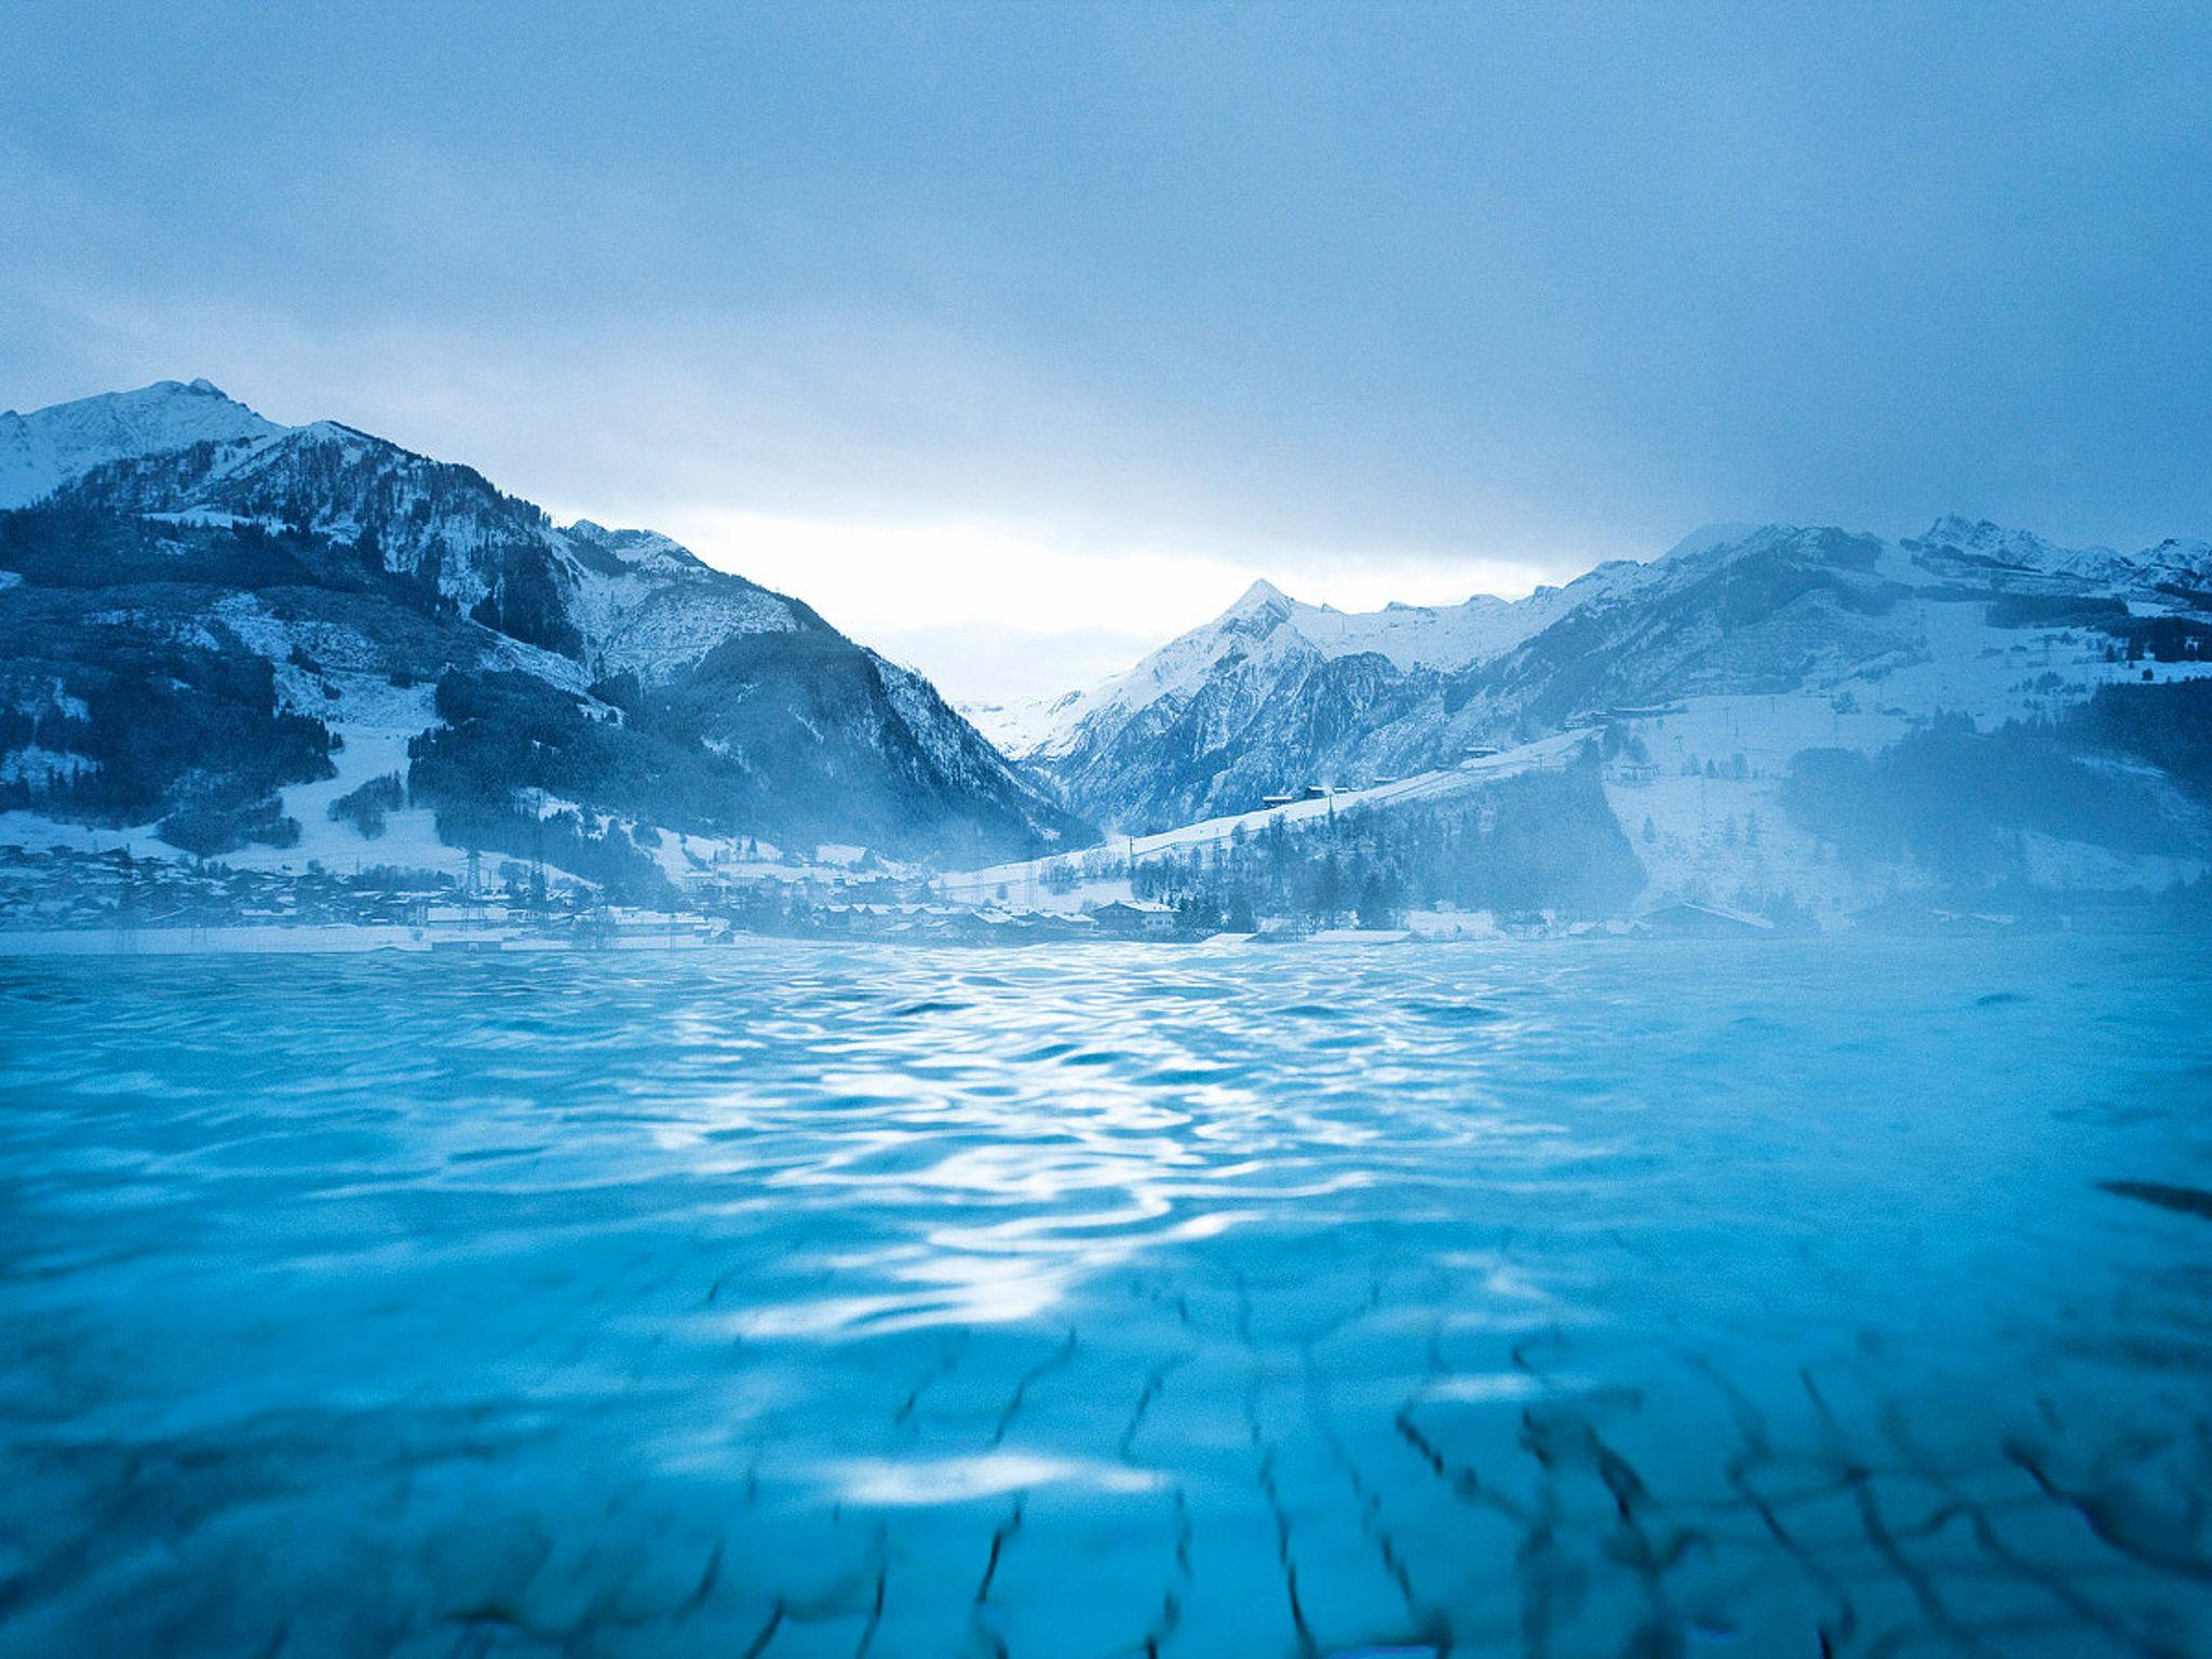
<path fill-rule="evenodd" d="M 268 827 L 283 785 L 389 763 L 398 737 L 440 836 L 471 845 L 538 845 L 524 801 L 595 836 L 1082 836 L 925 679 L 799 599 L 666 535 L 555 526 L 354 427 L 170 380 L 0 418 L 0 487 L 7 805 Z M 232 832 L 254 836 L 179 845 Z"/>

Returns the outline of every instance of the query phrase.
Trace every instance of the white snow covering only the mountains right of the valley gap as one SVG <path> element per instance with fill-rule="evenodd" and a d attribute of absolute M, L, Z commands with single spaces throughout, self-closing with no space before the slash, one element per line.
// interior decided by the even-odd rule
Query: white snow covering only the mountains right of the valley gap
<path fill-rule="evenodd" d="M 1690 582 L 1736 560 L 1767 553 L 1825 560 L 1832 535 L 1785 524 L 1708 526 L 1650 564 L 1606 564 L 1566 588 L 1542 588 L 1511 606 L 1478 599 L 1444 613 L 1394 606 L 1340 615 L 1301 606 L 1272 584 L 1254 584 L 1214 624 L 1183 635 L 1128 675 L 1055 703 L 1009 748 L 1046 768 L 1066 761 L 1062 776 L 1091 792 L 1079 805 L 1108 816 L 1144 816 L 1141 801 L 1110 794 L 1121 750 L 1141 745 L 1146 732 L 1172 721 L 1201 690 L 1232 710 L 1208 741 L 1223 754 L 1250 759 L 1250 750 L 1239 752 L 1239 741 L 1250 745 L 1250 739 L 1239 739 L 1243 714 L 1237 710 L 1256 708 L 1256 699 L 1298 697 L 1298 653 L 1380 648 L 1398 664 L 1418 664 L 1425 653 L 1449 655 L 1438 641 L 1451 641 L 1451 650 L 1495 650 L 1582 606 L 1601 604 L 1597 637 L 1615 639 L 1619 650 L 1652 653 L 1644 672 L 1655 684 L 1655 699 L 1681 710 L 1674 719 L 1639 726 L 1657 776 L 1608 768 L 1608 799 L 1650 869 L 1652 898 L 1792 894 L 1825 916 L 1843 916 L 1880 896 L 1869 883 L 1922 880 L 1927 872 L 1849 874 L 1792 832 L 1778 783 L 1796 752 L 1823 745 L 1871 752 L 1936 712 L 1969 714 L 1984 730 L 2011 719 L 2053 719 L 2101 686 L 2212 675 L 2212 661 L 2108 661 L 2110 641 L 2093 628 L 1989 622 L 1993 584 L 2055 597 L 2124 597 L 2143 617 L 2188 613 L 2190 591 L 2205 586 L 2212 568 L 2212 549 L 2201 542 L 2163 542 L 2128 560 L 2108 549 L 2066 549 L 2024 531 L 1947 518 L 1922 540 L 1860 542 L 1874 551 L 1871 573 L 1854 575 L 1851 560 L 1843 566 L 1845 580 L 1869 588 L 1871 582 L 1889 584 L 1865 608 L 1814 588 L 1732 630 L 1703 613 L 1663 611 Z M 1637 633 L 1644 617 L 1670 617 L 1672 633 Z M 1666 686 L 1666 664 L 1681 664 L 1688 677 L 1701 670 L 1701 653 L 1721 644 L 1725 661 L 1703 670 L 1712 679 L 1796 688 L 1694 695 L 1694 688 Z M 1478 690 L 1473 737 L 1511 726 L 1524 708 L 1515 697 L 1513 684 Z M 1405 752 L 1420 737 L 1416 723 L 1433 719 L 1418 697 L 1413 706 L 1420 712 L 1394 714 L 1398 726 L 1380 726 L 1363 741 L 1385 754 Z M 1703 776 L 1708 759 L 1721 776 Z M 1697 763 L 1697 776 L 1683 776 L 1686 761 Z M 1756 843 L 1747 836 L 1752 823 L 1759 825 Z M 2159 885 L 2185 872 L 2185 865 L 2099 863 L 2073 854 L 2053 854 L 2037 867 L 2093 887 Z"/>

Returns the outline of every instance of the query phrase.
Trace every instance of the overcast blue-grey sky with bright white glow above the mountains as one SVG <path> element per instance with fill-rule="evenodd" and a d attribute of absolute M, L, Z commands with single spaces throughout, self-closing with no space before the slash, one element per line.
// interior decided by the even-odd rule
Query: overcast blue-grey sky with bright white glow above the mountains
<path fill-rule="evenodd" d="M 956 697 L 1254 575 L 2203 535 L 2208 15 L 49 0 L 0 405 L 208 376 L 666 529 Z"/>

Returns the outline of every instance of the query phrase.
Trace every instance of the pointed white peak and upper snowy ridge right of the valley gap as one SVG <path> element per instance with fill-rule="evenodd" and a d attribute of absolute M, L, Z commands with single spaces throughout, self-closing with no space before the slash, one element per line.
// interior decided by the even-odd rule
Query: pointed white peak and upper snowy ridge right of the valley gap
<path fill-rule="evenodd" d="M 2013 648 L 2031 630 L 2088 630 L 2101 664 L 2159 617 L 2212 613 L 2208 588 L 2203 542 L 2119 555 L 1962 518 L 1905 542 L 1712 526 L 1644 564 L 1447 608 L 1345 615 L 1261 582 L 1055 703 L 1015 752 L 1077 810 L 1141 830 L 1451 765 L 1617 706 L 1856 684 L 1920 714 L 2026 712 Z"/>

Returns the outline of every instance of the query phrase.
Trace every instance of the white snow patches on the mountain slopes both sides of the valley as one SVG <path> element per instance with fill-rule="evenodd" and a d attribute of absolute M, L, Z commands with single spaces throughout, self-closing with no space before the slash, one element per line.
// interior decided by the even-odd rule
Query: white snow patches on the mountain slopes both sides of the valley
<path fill-rule="evenodd" d="M 283 469 L 301 465 L 310 453 L 321 462 L 323 451 L 336 451 L 352 462 L 383 469 L 403 502 L 405 493 L 418 487 L 409 469 L 420 458 L 352 427 L 327 420 L 279 427 L 206 380 L 190 385 L 164 380 L 139 392 L 53 405 L 29 416 L 13 411 L 0 416 L 0 507 L 29 500 L 104 460 L 206 440 L 228 445 L 212 473 L 217 480 L 263 476 L 283 480 L 288 478 Z M 237 515 L 215 500 L 221 498 L 168 504 L 168 511 L 153 518 L 186 524 L 237 522 Z M 325 529 L 343 535 L 354 526 L 330 522 Z M 478 507 L 469 507 L 440 520 L 436 533 L 465 555 L 487 544 L 493 531 L 511 535 L 513 529 L 511 522 L 493 524 Z M 664 535 L 611 531 L 591 520 L 575 520 L 566 529 L 544 522 L 533 533 L 544 538 L 555 560 L 593 659 L 577 664 L 493 633 L 484 637 L 487 650 L 498 666 L 526 670 L 577 697 L 588 697 L 588 686 L 604 672 L 628 670 L 650 681 L 697 661 L 730 635 L 801 626 L 792 602 L 710 573 Z M 1294 677 L 1314 661 L 1356 653 L 1383 657 L 1405 672 L 1480 666 L 1511 653 L 1577 608 L 1659 602 L 1668 597 L 1672 584 L 1730 560 L 1818 535 L 1823 533 L 1785 524 L 1712 524 L 1683 538 L 1659 560 L 1601 564 L 1577 582 L 1537 588 L 1517 602 L 1478 595 L 1458 606 L 1394 604 L 1383 611 L 1345 613 L 1294 599 L 1272 582 L 1254 582 L 1214 622 L 1181 635 L 1128 672 L 1086 692 L 971 706 L 962 712 L 1000 752 L 1053 763 L 1077 745 L 1104 741 L 1159 706 L 1172 712 L 1175 703 L 1225 675 L 1243 677 L 1250 703 L 1274 695 L 1272 688 L 1296 684 Z M 458 568 L 460 575 L 451 586 L 456 597 L 467 602 L 480 588 L 480 573 L 467 566 L 467 560 L 460 560 Z M 1776 779 L 1796 750 L 1820 743 L 1871 750 L 1896 741 L 1909 730 L 1911 719 L 1936 710 L 1966 712 L 1982 723 L 2035 719 L 2062 712 L 2104 684 L 2132 684 L 2146 672 L 2152 679 L 2212 672 L 2212 664 L 2150 664 L 2146 670 L 2143 664 L 2104 661 L 2097 635 L 2064 628 L 1991 628 L 1982 602 L 1955 597 L 1960 575 L 1966 571 L 1980 573 L 1984 584 L 2000 582 L 2022 593 L 2121 597 L 2135 615 L 2154 617 L 2188 604 L 2185 593 L 2177 595 L 2172 588 L 2192 591 L 2212 582 L 2212 544 L 2166 540 L 2130 557 L 2104 546 L 2059 546 L 2035 533 L 1966 515 L 1940 518 L 1922 538 L 1880 542 L 1874 575 L 1911 591 L 1880 617 L 1843 615 L 1834 606 L 1823 611 L 1825 597 L 1814 595 L 1792 613 L 1790 626 L 1774 630 L 1772 641 L 1759 639 L 1756 628 L 1743 630 L 1743 639 L 1750 641 L 1745 655 L 1752 659 L 1752 672 L 1745 677 L 1756 679 L 1765 672 L 1765 657 L 1756 653 L 1767 653 L 1774 677 L 1796 677 L 1801 690 L 1772 697 L 1679 699 L 1683 703 L 1679 717 L 1648 728 L 1657 776 L 1624 779 L 1617 770 L 1608 772 L 1608 799 L 1621 827 L 1637 843 L 1639 856 L 1652 867 L 1655 891 L 1725 894 L 1772 885 L 1840 907 L 1856 896 L 1851 883 L 1823 867 L 1816 849 L 1794 843 L 1785 830 L 1785 814 L 1776 810 Z M 0 573 L 0 584 L 7 582 L 11 575 Z M 453 869 L 460 854 L 436 847 L 429 814 L 394 814 L 389 832 L 374 843 L 361 838 L 352 825 L 327 818 L 327 805 L 338 794 L 378 772 L 405 770 L 407 737 L 434 719 L 429 692 L 392 688 L 374 668 L 376 641 L 361 637 L 358 630 L 281 622 L 252 595 L 221 599 L 215 615 L 272 661 L 279 692 L 290 708 L 332 721 L 345 737 L 338 779 L 285 792 L 285 810 L 303 825 L 301 845 L 252 849 L 239 858 L 279 867 L 307 858 L 332 865 L 405 858 L 420 860 L 422 867 Z M 88 617 L 88 622 L 100 619 Z M 142 622 L 131 613 L 108 613 L 106 619 Z M 212 635 L 199 624 L 186 624 L 181 637 L 212 644 Z M 292 661 L 294 648 L 305 650 L 323 668 L 319 672 L 299 668 Z M 995 757 L 942 719 L 927 681 L 891 664 L 883 664 L 883 670 L 896 717 L 940 768 L 969 783 L 989 783 L 995 770 L 1011 785 Z M 1498 723 L 1511 723 L 1515 714 L 1511 699 L 1500 695 L 1495 703 L 1491 714 Z M 613 710 L 599 703 L 593 708 L 613 717 Z M 1139 728 L 1139 734 L 1144 730 L 1148 728 Z M 1234 730 L 1221 737 L 1234 741 Z M 1542 745 L 1515 754 L 1531 754 L 1537 748 Z M 1699 761 L 1728 761 L 1741 754 L 1747 774 L 1688 779 L 1681 776 L 1683 754 Z M 0 776 L 44 779 L 71 763 L 71 757 L 24 748 L 0 757 Z M 1378 790 L 1340 792 L 1336 803 L 1418 801 L 1422 790 L 1464 787 L 1469 776 L 1480 772 L 1427 772 Z M 1327 803 L 1294 803 L 1283 812 L 1301 821 L 1327 812 Z M 1728 836 L 1730 823 L 1741 836 L 1754 814 L 1763 830 L 1756 852 Z M 1197 845 L 1208 836 L 1228 834 L 1239 823 L 1254 825 L 1267 816 L 1272 814 L 1261 810 L 1210 818 L 1166 836 L 1144 836 L 1133 845 L 1139 856 L 1144 849 Z M 1646 818 L 1652 823 L 1652 843 L 1641 841 Z M 106 841 L 113 845 L 115 836 Z M 741 863 L 745 867 L 765 863 L 770 874 L 792 874 L 783 863 L 739 860 L 739 847 L 741 841 L 670 834 L 661 860 L 672 876 L 686 878 L 699 876 L 701 867 L 728 874 Z M 2124 876 L 2132 880 L 2146 869 L 2099 865 L 2073 852 L 2037 856 L 2053 869 L 2088 869 L 2099 883 Z M 1031 872 L 1011 876 L 1031 880 L 1042 863 L 1046 860 L 1002 869 Z M 836 867 L 838 860 L 827 854 L 810 865 L 825 872 Z M 998 885 L 993 872 L 978 872 L 967 880 Z M 1079 891 L 1095 898 L 1104 889 L 1110 889 L 1110 883 L 1086 880 Z"/>

